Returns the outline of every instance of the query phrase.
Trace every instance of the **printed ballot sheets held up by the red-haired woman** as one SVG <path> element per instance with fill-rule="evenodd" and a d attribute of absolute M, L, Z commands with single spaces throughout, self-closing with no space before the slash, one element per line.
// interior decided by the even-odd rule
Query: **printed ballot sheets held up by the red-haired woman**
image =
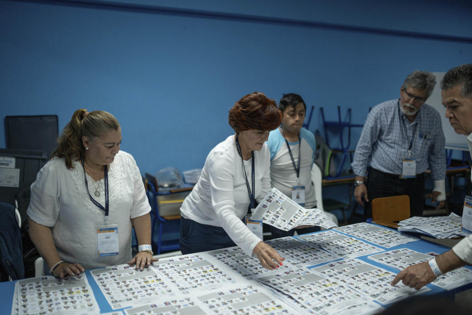
<path fill-rule="evenodd" d="M 252 216 L 255 220 L 288 231 L 300 225 L 317 225 L 326 229 L 336 227 L 324 211 L 305 209 L 276 188 L 266 194 Z"/>

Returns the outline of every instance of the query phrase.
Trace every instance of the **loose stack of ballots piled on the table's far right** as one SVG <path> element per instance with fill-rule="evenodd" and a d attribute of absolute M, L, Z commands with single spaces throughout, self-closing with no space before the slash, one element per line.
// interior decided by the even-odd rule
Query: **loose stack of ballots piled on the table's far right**
<path fill-rule="evenodd" d="M 462 231 L 462 217 L 454 214 L 443 217 L 412 217 L 398 222 L 401 232 L 415 232 L 435 238 L 454 238 L 469 235 Z"/>

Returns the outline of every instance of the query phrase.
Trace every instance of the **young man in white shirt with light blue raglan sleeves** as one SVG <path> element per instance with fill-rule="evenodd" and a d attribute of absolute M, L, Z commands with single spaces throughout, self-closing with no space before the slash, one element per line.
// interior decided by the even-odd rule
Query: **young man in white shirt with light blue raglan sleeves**
<path fill-rule="evenodd" d="M 306 105 L 300 95 L 285 94 L 279 103 L 282 125 L 270 131 L 270 185 L 291 197 L 304 208 L 316 208 L 311 168 L 316 142 L 313 133 L 303 128 Z M 301 157 L 301 158 L 300 158 Z M 295 229 L 283 231 L 267 225 L 272 237 L 293 236 Z M 298 228 L 298 234 L 319 231 L 318 226 Z"/>

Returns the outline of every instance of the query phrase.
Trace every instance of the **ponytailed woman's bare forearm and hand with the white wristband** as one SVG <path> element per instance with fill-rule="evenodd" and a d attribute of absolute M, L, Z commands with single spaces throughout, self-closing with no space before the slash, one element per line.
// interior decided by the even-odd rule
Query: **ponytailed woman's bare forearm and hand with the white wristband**
<path fill-rule="evenodd" d="M 140 217 L 131 219 L 134 230 L 136 231 L 136 238 L 138 239 L 138 245 L 151 244 L 151 216 L 145 214 Z M 150 252 L 138 252 L 136 256 L 128 261 L 129 265 L 136 264 L 136 268 L 144 269 L 145 266 L 150 265 L 153 261 L 158 261 L 152 257 Z"/>

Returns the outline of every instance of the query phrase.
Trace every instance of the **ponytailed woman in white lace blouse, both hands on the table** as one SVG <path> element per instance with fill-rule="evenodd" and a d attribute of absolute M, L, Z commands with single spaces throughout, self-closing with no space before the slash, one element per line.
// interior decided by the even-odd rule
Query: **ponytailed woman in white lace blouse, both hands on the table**
<path fill-rule="evenodd" d="M 141 174 L 120 143 L 112 114 L 79 109 L 31 185 L 29 236 L 56 277 L 126 262 L 143 269 L 157 260 Z M 134 257 L 132 226 L 140 246 Z"/>

